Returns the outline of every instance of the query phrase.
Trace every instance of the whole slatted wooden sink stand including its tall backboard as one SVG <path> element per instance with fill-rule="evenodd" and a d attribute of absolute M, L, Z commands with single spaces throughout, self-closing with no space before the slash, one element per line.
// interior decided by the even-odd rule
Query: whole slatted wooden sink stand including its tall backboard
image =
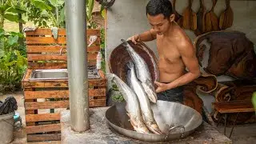
<path fill-rule="evenodd" d="M 96 42 L 87 49 L 87 62 L 95 66 L 100 50 L 100 30 L 87 30 L 98 36 Z M 22 78 L 25 98 L 26 134 L 28 142 L 61 140 L 59 109 L 69 107 L 68 80 L 30 81 L 32 70 L 66 69 L 66 30 L 58 30 L 54 39 L 50 29 L 37 29 L 26 32 L 28 69 Z M 62 50 L 62 55 L 59 51 Z M 88 79 L 89 106 L 106 106 L 106 78 L 100 70 L 101 78 Z M 50 113 L 54 110 L 54 113 Z"/>

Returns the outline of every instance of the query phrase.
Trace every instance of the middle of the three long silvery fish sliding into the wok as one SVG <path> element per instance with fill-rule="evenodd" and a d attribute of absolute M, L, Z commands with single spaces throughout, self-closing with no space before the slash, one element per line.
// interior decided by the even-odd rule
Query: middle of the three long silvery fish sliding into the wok
<path fill-rule="evenodd" d="M 145 91 L 143 90 L 141 83 L 138 82 L 138 79 L 136 77 L 134 63 L 130 61 L 128 62 L 127 66 L 130 70 L 127 71 L 126 79 L 128 85 L 134 90 L 135 94 L 138 97 L 138 102 L 142 110 L 142 117 L 144 119 L 146 127 L 154 134 L 162 134 L 157 122 L 155 122 L 154 114 L 150 107 L 150 100 L 147 97 Z"/>

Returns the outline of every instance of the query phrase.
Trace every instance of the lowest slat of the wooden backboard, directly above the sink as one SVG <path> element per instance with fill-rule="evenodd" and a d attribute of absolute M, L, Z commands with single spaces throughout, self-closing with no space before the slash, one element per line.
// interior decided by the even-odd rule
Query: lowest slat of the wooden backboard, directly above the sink
<path fill-rule="evenodd" d="M 88 66 L 96 66 L 96 59 L 88 61 Z M 66 69 L 66 62 L 28 62 L 30 70 L 45 70 L 45 69 Z"/>

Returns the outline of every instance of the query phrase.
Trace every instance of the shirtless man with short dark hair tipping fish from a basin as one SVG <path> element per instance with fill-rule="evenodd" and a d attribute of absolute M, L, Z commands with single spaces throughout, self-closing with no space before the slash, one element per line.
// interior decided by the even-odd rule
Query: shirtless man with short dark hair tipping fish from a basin
<path fill-rule="evenodd" d="M 146 16 L 152 29 L 128 39 L 135 44 L 156 39 L 160 78 L 154 83 L 158 86 L 158 99 L 182 103 L 183 86 L 200 76 L 194 46 L 184 30 L 174 22 L 175 15 L 169 0 L 150 0 Z"/>

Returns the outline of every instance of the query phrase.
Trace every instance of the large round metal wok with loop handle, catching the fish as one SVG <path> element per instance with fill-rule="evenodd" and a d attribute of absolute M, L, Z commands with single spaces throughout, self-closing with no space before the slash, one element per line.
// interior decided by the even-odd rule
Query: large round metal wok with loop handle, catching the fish
<path fill-rule="evenodd" d="M 106 110 L 106 119 L 119 134 L 144 142 L 165 142 L 186 138 L 202 124 L 198 111 L 176 102 L 158 101 L 151 104 L 154 118 L 164 134 L 142 134 L 134 131 L 126 114 L 126 103 L 118 103 Z"/>

